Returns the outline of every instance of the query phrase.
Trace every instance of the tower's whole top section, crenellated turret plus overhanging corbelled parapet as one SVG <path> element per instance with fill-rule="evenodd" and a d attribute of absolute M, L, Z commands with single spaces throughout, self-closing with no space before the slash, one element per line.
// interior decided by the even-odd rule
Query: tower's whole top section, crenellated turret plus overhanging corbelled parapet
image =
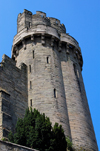
<path fill-rule="evenodd" d="M 17 35 L 13 40 L 12 58 L 16 59 L 18 56 L 19 46 L 26 48 L 27 39 L 31 39 L 35 43 L 36 37 L 41 37 L 43 45 L 46 44 L 45 39 L 50 38 L 51 47 L 54 46 L 54 43 L 57 43 L 58 51 L 61 51 L 61 47 L 64 46 L 66 53 L 69 53 L 68 49 L 70 48 L 70 53 L 72 51 L 75 57 L 77 56 L 82 68 L 83 59 L 78 42 L 66 33 L 65 25 L 61 24 L 60 20 L 46 17 L 46 13 L 41 11 L 32 14 L 32 12 L 24 9 L 24 12 L 18 15 Z"/>

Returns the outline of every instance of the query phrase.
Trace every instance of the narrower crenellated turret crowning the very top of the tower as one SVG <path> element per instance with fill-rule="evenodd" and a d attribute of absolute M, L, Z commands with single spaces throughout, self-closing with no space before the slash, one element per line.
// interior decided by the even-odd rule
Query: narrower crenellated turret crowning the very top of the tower
<path fill-rule="evenodd" d="M 64 24 L 60 23 L 60 20 L 52 17 L 46 17 L 46 13 L 41 11 L 36 11 L 36 14 L 24 9 L 24 12 L 18 15 L 17 19 L 17 33 L 22 31 L 24 28 L 27 30 L 36 27 L 36 25 L 46 25 L 53 27 L 58 30 L 59 33 L 66 33 L 66 28 Z"/>

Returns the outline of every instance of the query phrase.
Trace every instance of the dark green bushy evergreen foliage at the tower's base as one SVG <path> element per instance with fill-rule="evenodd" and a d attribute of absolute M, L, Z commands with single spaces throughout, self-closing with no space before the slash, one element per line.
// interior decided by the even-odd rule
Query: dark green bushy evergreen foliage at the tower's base
<path fill-rule="evenodd" d="M 39 151 L 66 151 L 67 142 L 62 126 L 55 123 L 36 109 L 27 109 L 24 119 L 18 119 L 16 133 L 11 132 L 9 141 L 38 149 Z"/>

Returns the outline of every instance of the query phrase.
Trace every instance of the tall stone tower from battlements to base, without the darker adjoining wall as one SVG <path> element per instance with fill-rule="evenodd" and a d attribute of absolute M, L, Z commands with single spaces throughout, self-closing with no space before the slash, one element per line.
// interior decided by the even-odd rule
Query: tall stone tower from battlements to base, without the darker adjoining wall
<path fill-rule="evenodd" d="M 27 66 L 28 106 L 63 126 L 75 148 L 97 151 L 78 42 L 64 24 L 37 11 L 18 15 L 12 59 Z M 23 85 L 23 83 L 20 83 Z"/>

